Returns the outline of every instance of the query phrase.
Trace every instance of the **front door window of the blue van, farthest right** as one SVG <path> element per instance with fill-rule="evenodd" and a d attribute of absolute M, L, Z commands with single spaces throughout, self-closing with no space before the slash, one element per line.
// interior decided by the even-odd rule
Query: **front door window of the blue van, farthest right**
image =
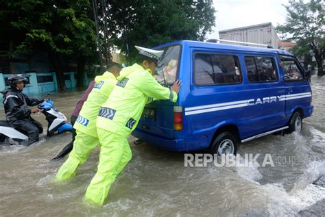
<path fill-rule="evenodd" d="M 301 81 L 304 79 L 298 62 L 292 58 L 281 57 L 282 68 L 285 72 L 285 81 Z"/>

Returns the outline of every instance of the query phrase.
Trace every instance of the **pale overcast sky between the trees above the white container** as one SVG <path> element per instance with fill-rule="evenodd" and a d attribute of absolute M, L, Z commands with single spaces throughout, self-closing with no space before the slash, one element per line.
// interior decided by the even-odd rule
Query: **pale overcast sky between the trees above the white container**
<path fill-rule="evenodd" d="M 214 32 L 206 38 L 219 38 L 219 31 L 272 22 L 274 27 L 285 23 L 287 11 L 282 4 L 288 0 L 213 0 L 215 6 Z"/>

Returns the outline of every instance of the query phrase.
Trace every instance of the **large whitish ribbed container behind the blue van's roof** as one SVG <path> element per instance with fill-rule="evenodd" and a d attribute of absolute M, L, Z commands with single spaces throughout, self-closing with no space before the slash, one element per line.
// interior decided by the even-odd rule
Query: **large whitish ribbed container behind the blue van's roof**
<path fill-rule="evenodd" d="M 219 38 L 220 40 L 267 44 L 275 49 L 278 48 L 278 35 L 272 23 L 221 30 L 219 31 Z"/>

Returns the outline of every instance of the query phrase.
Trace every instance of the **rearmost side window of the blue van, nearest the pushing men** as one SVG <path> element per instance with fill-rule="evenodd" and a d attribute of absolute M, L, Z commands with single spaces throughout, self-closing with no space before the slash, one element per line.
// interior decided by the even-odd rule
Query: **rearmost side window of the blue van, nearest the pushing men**
<path fill-rule="evenodd" d="M 239 84 L 242 80 L 239 60 L 234 55 L 196 53 L 194 73 L 197 86 Z"/>

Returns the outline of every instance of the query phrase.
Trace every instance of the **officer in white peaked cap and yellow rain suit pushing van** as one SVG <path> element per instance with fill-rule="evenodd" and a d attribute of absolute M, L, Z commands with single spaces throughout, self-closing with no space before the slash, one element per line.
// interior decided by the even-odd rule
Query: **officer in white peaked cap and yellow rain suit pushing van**
<path fill-rule="evenodd" d="M 138 124 L 145 104 L 150 98 L 176 102 L 180 90 L 180 81 L 169 89 L 152 76 L 163 51 L 137 46 L 136 49 L 139 50 L 136 64 L 122 69 L 117 86 L 97 116 L 99 164 L 84 197 L 95 205 L 103 205 L 110 186 L 132 158 L 128 136 Z"/>

